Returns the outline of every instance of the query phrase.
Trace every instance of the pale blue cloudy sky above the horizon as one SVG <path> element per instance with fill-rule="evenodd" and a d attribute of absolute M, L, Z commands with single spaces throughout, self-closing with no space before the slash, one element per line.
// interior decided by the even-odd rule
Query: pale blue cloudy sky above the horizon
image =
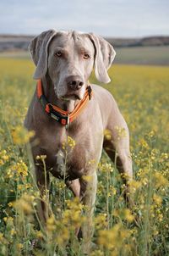
<path fill-rule="evenodd" d="M 75 30 L 101 36 L 169 36 L 169 0 L 0 0 L 0 34 Z"/>

